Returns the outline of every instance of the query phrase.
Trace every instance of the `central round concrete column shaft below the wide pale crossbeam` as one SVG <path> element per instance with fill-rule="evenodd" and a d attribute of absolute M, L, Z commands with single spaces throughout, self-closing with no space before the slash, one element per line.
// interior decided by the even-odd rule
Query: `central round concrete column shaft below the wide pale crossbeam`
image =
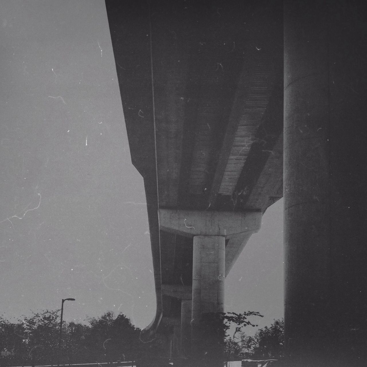
<path fill-rule="evenodd" d="M 225 237 L 195 236 L 192 270 L 192 352 L 197 358 L 221 359 L 221 325 L 218 312 L 224 310 Z M 213 328 L 213 330 L 211 330 Z M 204 344 L 205 346 L 204 346 Z M 210 348 L 210 350 L 208 350 Z"/>

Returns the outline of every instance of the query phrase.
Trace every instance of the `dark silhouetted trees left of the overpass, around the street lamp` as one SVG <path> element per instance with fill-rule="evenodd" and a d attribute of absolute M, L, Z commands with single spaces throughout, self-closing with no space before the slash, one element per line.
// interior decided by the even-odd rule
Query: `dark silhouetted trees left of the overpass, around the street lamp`
<path fill-rule="evenodd" d="M 140 330 L 120 313 L 63 322 L 59 355 L 59 310 L 32 313 L 11 323 L 0 317 L 2 365 L 110 362 L 139 356 Z"/>

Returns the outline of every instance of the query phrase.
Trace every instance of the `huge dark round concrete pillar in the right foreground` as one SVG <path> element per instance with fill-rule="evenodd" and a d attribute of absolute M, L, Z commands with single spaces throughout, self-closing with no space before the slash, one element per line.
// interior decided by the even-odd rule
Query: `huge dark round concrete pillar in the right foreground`
<path fill-rule="evenodd" d="M 366 41 L 349 1 L 284 3 L 285 346 L 367 362 Z"/>

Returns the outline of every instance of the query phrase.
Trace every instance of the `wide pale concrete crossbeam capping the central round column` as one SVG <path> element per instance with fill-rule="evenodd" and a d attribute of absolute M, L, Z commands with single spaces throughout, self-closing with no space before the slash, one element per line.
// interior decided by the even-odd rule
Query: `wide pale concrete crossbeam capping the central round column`
<path fill-rule="evenodd" d="M 240 233 L 258 232 L 261 212 L 225 212 L 193 210 L 158 210 L 161 230 L 181 236 L 223 236 L 226 239 Z"/>

